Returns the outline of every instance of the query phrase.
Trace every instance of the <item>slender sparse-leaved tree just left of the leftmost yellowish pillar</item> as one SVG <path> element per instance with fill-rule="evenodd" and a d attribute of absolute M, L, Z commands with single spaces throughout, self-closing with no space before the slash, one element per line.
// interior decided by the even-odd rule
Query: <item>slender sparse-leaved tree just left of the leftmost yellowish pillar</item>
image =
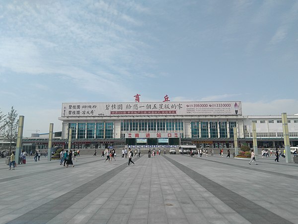
<path fill-rule="evenodd" d="M 9 141 L 9 155 L 11 154 L 12 142 L 16 141 L 17 137 L 17 128 L 18 128 L 18 119 L 17 112 L 11 107 L 10 112 L 6 115 L 4 121 L 4 134 L 3 136 Z"/>

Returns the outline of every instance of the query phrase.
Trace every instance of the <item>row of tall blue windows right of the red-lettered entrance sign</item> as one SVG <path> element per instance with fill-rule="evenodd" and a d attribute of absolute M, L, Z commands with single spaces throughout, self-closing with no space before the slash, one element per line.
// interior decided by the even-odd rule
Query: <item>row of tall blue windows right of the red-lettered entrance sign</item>
<path fill-rule="evenodd" d="M 195 121 L 191 122 L 192 138 L 227 138 L 234 137 L 236 121 Z M 229 131 L 229 132 L 228 132 Z M 210 132 L 210 136 L 209 136 Z M 229 133 L 229 136 L 228 136 Z"/>

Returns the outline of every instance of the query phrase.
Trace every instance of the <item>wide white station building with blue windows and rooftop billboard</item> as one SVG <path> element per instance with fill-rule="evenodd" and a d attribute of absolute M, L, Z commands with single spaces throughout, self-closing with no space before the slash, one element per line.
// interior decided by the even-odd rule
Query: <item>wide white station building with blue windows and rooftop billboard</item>
<path fill-rule="evenodd" d="M 258 147 L 283 147 L 281 115 L 244 116 L 240 101 L 63 103 L 60 144 L 66 147 L 72 129 L 72 148 L 252 147 L 252 122 Z M 291 146 L 298 145 L 298 115 L 288 115 Z M 55 143 L 55 142 L 54 142 Z"/>

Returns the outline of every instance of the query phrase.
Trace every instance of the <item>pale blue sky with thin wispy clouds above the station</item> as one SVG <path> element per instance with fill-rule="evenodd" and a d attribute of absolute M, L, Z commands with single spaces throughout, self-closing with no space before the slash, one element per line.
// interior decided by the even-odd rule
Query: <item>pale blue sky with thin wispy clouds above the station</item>
<path fill-rule="evenodd" d="M 136 94 L 298 113 L 298 1 L 0 1 L 0 111 L 23 136 L 61 131 L 62 103 Z"/>

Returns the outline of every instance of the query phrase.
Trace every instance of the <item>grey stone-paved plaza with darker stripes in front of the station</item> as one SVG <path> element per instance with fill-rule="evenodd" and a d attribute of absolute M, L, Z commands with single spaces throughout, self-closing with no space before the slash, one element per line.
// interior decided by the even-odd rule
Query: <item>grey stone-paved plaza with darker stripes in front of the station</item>
<path fill-rule="evenodd" d="M 104 163 L 83 155 L 7 170 L 0 159 L 0 223 L 284 224 L 298 223 L 298 164 L 156 155 Z"/>

